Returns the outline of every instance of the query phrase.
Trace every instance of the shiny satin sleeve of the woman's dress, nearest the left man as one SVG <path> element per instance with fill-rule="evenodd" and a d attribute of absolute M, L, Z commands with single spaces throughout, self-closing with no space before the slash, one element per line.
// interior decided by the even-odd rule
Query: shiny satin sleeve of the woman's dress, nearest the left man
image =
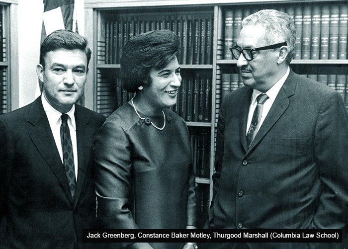
<path fill-rule="evenodd" d="M 106 121 L 94 139 L 97 219 L 104 229 L 139 229 L 129 209 L 131 191 L 131 144 L 126 132 Z M 121 247 L 141 249 L 147 243 L 120 243 Z"/>

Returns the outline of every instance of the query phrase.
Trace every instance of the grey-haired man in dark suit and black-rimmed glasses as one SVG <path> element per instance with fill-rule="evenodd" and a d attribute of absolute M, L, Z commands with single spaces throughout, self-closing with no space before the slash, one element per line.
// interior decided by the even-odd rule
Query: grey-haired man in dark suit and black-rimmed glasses
<path fill-rule="evenodd" d="M 346 226 L 347 110 L 338 92 L 292 72 L 295 46 L 295 27 L 286 13 L 261 10 L 243 20 L 231 52 L 245 86 L 228 94 L 221 105 L 209 228 Z"/>

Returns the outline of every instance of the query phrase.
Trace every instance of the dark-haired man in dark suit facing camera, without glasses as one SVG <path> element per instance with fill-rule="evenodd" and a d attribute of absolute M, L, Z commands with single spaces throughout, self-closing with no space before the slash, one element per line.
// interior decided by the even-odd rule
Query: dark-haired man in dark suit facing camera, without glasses
<path fill-rule="evenodd" d="M 84 37 L 54 31 L 36 69 L 42 95 L 0 116 L 0 248 L 88 246 L 82 231 L 93 228 L 96 213 L 92 141 L 105 120 L 75 105 L 89 59 Z"/>

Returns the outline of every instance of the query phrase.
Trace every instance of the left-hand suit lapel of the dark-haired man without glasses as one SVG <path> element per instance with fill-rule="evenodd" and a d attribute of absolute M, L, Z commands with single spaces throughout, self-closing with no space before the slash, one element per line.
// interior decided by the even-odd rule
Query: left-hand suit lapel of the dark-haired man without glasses
<path fill-rule="evenodd" d="M 33 102 L 27 121 L 33 125 L 32 129 L 29 131 L 32 142 L 57 177 L 67 198 L 72 202 L 67 176 L 51 132 L 51 127 L 42 106 L 41 97 Z"/>

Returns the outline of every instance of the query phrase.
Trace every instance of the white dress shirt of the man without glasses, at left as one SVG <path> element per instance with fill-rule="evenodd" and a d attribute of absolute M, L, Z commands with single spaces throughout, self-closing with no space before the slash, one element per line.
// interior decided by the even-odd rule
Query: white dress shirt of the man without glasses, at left
<path fill-rule="evenodd" d="M 59 152 L 59 156 L 61 157 L 63 164 L 63 149 L 61 143 L 61 124 L 62 124 L 62 114 L 68 114 L 68 126 L 70 131 L 70 137 L 73 144 L 73 153 L 74 153 L 74 164 L 75 164 L 75 177 L 78 179 L 78 147 L 77 147 L 77 139 L 76 139 L 76 122 L 75 122 L 75 105 L 71 108 L 67 113 L 61 113 L 53 108 L 46 100 L 44 93 L 41 94 L 41 100 L 43 108 L 46 112 L 48 122 L 50 123 L 51 131 L 54 137 L 54 141 L 56 142 L 56 146 Z"/>

